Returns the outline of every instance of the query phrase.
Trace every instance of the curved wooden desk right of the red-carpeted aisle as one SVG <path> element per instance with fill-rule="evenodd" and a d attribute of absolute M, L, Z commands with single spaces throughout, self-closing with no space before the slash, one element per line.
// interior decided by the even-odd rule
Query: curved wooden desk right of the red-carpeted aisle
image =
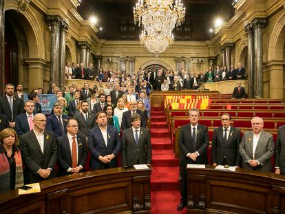
<path fill-rule="evenodd" d="M 187 169 L 187 213 L 284 213 L 285 176 Z"/>

